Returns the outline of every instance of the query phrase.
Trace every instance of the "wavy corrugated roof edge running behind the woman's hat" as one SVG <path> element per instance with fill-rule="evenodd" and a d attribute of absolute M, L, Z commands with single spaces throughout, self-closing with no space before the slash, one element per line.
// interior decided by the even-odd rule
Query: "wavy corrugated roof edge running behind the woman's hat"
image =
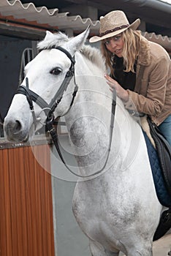
<path fill-rule="evenodd" d="M 99 20 L 81 18 L 80 15 L 69 16 L 69 12 L 59 12 L 58 8 L 48 10 L 47 7 L 35 7 L 33 3 L 22 4 L 20 0 L 0 0 L 0 14 L 13 16 L 15 19 L 25 19 L 29 22 L 36 21 L 39 24 L 48 24 L 58 29 L 73 29 L 82 31 L 90 24 L 94 34 L 99 33 Z M 171 38 L 163 37 L 155 33 L 142 33 L 147 39 L 157 42 L 171 51 Z"/>

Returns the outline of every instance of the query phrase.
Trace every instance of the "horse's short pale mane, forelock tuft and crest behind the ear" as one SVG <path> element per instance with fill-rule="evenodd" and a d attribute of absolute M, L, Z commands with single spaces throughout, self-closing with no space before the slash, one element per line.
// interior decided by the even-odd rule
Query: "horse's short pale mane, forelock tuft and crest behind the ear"
<path fill-rule="evenodd" d="M 65 42 L 69 42 L 72 37 L 67 37 L 66 34 L 58 33 L 53 34 L 53 37 L 50 39 L 43 39 L 41 42 L 37 44 L 37 48 L 39 50 L 51 49 L 56 48 L 58 46 L 63 46 Z M 102 56 L 102 53 L 99 49 L 93 48 L 90 45 L 83 45 L 80 49 L 80 53 L 83 54 L 89 61 L 94 63 L 97 67 L 101 68 L 105 72 L 105 62 Z"/>

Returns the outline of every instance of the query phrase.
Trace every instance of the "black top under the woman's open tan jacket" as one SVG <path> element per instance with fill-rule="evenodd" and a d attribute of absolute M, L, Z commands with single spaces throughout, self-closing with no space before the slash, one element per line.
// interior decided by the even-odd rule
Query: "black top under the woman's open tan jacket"
<path fill-rule="evenodd" d="M 123 58 L 115 56 L 113 59 L 114 79 L 123 87 L 123 89 L 129 89 L 134 91 L 136 82 L 136 64 L 134 64 L 135 72 L 124 72 Z"/>

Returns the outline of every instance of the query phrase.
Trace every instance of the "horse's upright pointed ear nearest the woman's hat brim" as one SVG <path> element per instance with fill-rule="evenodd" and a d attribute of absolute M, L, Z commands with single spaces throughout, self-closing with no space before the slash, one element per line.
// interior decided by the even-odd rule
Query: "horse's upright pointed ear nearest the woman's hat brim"
<path fill-rule="evenodd" d="M 69 53 L 71 53 L 72 56 L 74 56 L 75 52 L 80 50 L 80 48 L 82 48 L 83 44 L 86 42 L 90 31 L 89 27 L 90 26 L 88 26 L 88 28 L 83 31 L 83 33 L 77 35 L 77 37 L 73 37 L 71 40 L 69 40 L 69 42 L 66 42 L 65 47 L 67 50 L 69 50 Z"/>

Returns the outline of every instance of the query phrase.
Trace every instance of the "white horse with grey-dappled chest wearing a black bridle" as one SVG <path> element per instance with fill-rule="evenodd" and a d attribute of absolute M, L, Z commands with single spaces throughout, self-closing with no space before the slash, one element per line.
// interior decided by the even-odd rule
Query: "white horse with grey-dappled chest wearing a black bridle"
<path fill-rule="evenodd" d="M 112 93 L 104 79 L 104 60 L 99 50 L 84 45 L 88 29 L 77 37 L 47 32 L 39 42 L 40 53 L 26 66 L 23 87 L 50 102 L 71 66 L 69 55 L 56 48 L 61 45 L 75 56 L 75 79 L 64 91 L 54 116 L 66 113 L 66 126 L 75 148 L 80 176 L 73 197 L 77 223 L 88 236 L 93 256 L 152 256 L 153 235 L 164 210 L 156 197 L 151 166 L 140 124 L 116 99 L 113 140 L 110 143 Z M 45 121 L 44 111 L 34 102 L 34 115 L 26 95 L 15 94 L 4 121 L 9 140 L 25 141 Z M 40 114 L 41 113 L 41 114 Z M 102 171 L 98 173 L 98 170 Z M 94 174 L 95 173 L 95 174 Z"/>

